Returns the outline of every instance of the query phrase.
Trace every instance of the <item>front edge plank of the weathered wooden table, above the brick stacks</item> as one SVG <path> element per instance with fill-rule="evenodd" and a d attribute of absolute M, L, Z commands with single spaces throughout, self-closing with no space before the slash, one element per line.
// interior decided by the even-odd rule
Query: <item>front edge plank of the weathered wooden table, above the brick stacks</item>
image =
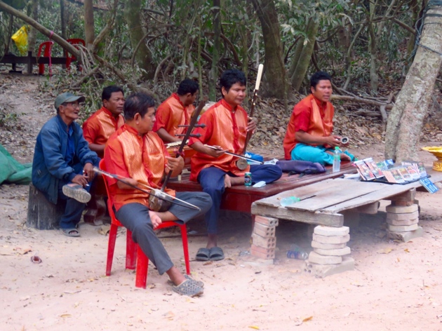
<path fill-rule="evenodd" d="M 274 208 L 266 205 L 257 205 L 257 203 L 252 203 L 252 214 L 308 224 L 326 225 L 328 227 L 342 227 L 344 225 L 344 216 L 341 214 L 288 210 L 283 207 Z"/>

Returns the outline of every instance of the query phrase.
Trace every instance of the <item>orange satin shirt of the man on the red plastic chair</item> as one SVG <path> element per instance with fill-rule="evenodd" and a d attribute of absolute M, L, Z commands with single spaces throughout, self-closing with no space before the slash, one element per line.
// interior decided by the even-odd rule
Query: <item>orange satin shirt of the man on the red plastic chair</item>
<path fill-rule="evenodd" d="M 168 151 L 161 138 L 153 132 L 142 137 L 137 130 L 123 125 L 107 141 L 105 163 L 108 173 L 128 177 L 156 189 L 161 188 L 161 180 L 166 166 Z M 109 179 L 109 191 L 116 210 L 126 203 L 142 203 L 149 206 L 149 194 L 137 189 L 119 189 L 117 180 Z M 141 189 L 149 191 L 146 187 Z M 175 191 L 166 189 L 175 196 Z"/>

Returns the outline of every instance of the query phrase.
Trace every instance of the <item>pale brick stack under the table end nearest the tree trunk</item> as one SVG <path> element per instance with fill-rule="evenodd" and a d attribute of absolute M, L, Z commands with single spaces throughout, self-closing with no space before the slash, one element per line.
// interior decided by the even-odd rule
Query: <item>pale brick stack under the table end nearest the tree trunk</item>
<path fill-rule="evenodd" d="M 392 239 L 409 241 L 422 236 L 419 226 L 419 206 L 414 201 L 394 201 L 387 205 L 387 236 Z"/>

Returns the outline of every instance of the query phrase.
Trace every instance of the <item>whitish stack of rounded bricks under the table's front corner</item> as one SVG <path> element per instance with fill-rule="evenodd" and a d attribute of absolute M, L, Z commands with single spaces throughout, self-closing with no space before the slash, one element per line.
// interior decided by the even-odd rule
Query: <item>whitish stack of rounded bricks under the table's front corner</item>
<path fill-rule="evenodd" d="M 351 250 L 347 246 L 350 240 L 349 227 L 314 228 L 312 248 L 309 262 L 315 264 L 339 264 L 342 256 L 349 255 Z"/>

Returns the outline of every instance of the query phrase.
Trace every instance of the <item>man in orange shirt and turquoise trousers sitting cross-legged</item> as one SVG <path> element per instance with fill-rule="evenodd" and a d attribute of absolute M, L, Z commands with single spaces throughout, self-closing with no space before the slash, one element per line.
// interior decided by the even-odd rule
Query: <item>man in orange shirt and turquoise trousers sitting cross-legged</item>
<path fill-rule="evenodd" d="M 288 122 L 283 147 L 286 160 L 333 164 L 333 151 L 341 147 L 341 137 L 333 135 L 333 115 L 331 104 L 331 77 L 326 72 L 316 72 L 310 79 L 308 97 L 304 97 L 293 108 Z M 340 154 L 341 160 L 354 161 L 348 151 Z"/>

